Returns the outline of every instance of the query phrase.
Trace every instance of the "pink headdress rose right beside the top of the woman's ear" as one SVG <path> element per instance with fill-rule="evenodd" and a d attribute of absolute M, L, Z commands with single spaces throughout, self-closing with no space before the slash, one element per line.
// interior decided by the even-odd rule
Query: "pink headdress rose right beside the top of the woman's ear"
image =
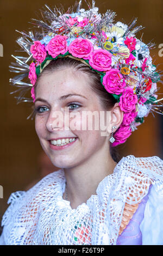
<path fill-rule="evenodd" d="M 124 112 L 133 111 L 136 103 L 137 95 L 133 93 L 133 89 L 130 87 L 125 88 L 119 102 L 121 110 Z"/>

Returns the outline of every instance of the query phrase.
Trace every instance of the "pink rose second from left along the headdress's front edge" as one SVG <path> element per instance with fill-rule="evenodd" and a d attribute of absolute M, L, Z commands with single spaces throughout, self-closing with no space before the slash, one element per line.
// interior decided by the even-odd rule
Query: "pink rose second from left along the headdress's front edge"
<path fill-rule="evenodd" d="M 66 35 L 55 35 L 45 47 L 49 55 L 56 58 L 59 54 L 65 54 L 68 51 Z"/>

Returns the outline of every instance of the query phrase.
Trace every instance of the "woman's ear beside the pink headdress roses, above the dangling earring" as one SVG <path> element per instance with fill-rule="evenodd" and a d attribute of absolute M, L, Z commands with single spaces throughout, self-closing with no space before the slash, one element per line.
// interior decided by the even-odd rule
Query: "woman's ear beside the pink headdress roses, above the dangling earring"
<path fill-rule="evenodd" d="M 123 121 L 123 114 L 124 112 L 121 110 L 119 103 L 115 103 L 114 107 L 112 107 L 111 111 L 111 118 L 110 118 L 110 125 L 108 127 L 108 132 L 111 133 L 112 126 L 116 126 L 116 129 L 114 132 L 120 127 L 122 121 Z"/>

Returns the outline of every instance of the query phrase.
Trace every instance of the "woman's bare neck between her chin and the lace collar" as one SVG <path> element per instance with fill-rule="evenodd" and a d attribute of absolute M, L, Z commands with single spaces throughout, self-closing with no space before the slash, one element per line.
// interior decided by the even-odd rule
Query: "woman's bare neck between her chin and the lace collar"
<path fill-rule="evenodd" d="M 89 160 L 73 168 L 65 168 L 66 191 L 72 209 L 86 203 L 106 176 L 112 174 L 116 167 L 110 154 L 94 154 Z M 64 193 L 64 198 L 65 198 Z"/>

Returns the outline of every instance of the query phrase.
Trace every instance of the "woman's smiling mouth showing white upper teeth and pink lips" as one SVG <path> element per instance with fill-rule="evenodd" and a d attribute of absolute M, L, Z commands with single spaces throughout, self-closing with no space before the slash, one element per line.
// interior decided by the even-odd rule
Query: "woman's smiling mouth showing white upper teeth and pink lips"
<path fill-rule="evenodd" d="M 50 143 L 50 147 L 52 149 L 64 149 L 67 148 L 68 146 L 70 146 L 71 144 L 73 144 L 75 141 L 77 141 L 77 137 L 76 138 L 62 138 L 62 139 L 53 139 L 51 141 L 49 141 Z"/>

